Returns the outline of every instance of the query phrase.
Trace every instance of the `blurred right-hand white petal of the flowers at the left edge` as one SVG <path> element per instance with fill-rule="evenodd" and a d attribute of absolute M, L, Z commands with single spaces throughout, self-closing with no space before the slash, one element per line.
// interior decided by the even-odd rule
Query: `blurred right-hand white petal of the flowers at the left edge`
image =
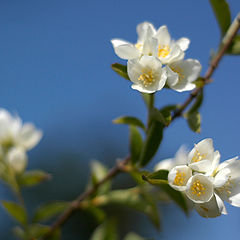
<path fill-rule="evenodd" d="M 42 138 L 42 132 L 31 123 L 25 123 L 21 129 L 18 144 L 26 150 L 32 149 Z"/>

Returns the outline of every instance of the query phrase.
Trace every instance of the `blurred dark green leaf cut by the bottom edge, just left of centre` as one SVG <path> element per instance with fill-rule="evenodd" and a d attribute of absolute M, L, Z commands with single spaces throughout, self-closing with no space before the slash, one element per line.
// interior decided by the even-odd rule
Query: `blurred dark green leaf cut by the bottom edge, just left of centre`
<path fill-rule="evenodd" d="M 116 223 L 108 220 L 98 226 L 93 232 L 90 240 L 118 240 Z"/>

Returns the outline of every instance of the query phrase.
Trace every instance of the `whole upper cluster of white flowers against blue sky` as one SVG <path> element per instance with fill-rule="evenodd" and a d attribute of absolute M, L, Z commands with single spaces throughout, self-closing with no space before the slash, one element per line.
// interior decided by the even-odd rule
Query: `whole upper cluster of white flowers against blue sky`
<path fill-rule="evenodd" d="M 115 53 L 128 60 L 127 71 L 133 89 L 153 93 L 166 84 L 178 92 L 195 88 L 193 82 L 200 74 L 201 64 L 195 59 L 184 60 L 189 39 L 174 41 L 166 26 L 156 30 L 149 22 L 139 24 L 137 33 L 136 44 L 121 39 L 111 41 Z"/>

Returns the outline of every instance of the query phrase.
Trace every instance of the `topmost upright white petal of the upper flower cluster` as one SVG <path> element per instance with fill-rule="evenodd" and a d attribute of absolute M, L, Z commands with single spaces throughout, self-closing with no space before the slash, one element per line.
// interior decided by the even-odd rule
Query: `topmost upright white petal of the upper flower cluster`
<path fill-rule="evenodd" d="M 138 42 L 143 43 L 148 38 L 156 34 L 154 26 L 149 22 L 143 22 L 137 25 Z"/>

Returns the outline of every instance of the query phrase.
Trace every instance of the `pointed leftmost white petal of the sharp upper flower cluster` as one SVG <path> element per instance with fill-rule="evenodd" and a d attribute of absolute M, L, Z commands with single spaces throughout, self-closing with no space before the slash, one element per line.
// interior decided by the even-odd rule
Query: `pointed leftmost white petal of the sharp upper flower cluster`
<path fill-rule="evenodd" d="M 133 59 L 141 56 L 141 52 L 130 43 L 127 43 L 120 39 L 111 40 L 116 55 L 122 59 Z"/>

